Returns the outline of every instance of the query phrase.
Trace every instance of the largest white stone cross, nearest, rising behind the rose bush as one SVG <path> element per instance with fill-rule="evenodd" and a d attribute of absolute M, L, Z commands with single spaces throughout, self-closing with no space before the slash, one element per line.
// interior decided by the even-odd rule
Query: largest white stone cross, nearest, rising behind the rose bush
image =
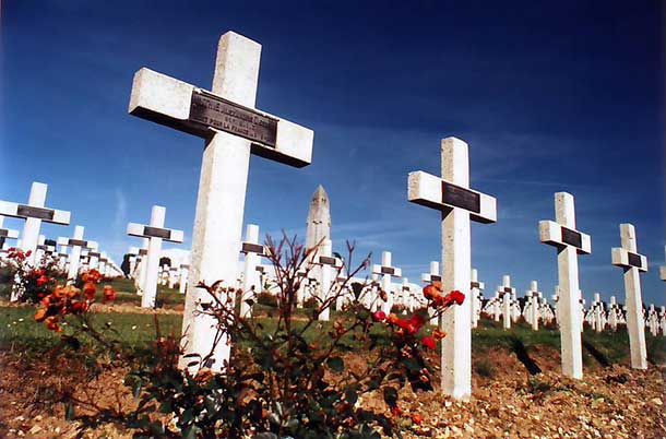
<path fill-rule="evenodd" d="M 197 312 L 211 302 L 200 282 L 233 286 L 242 234 L 250 153 L 302 167 L 311 162 L 314 133 L 254 108 L 261 45 L 228 32 L 219 39 L 212 92 L 148 69 L 134 75 L 129 111 L 205 139 L 192 235 L 180 367 L 221 370 L 229 358 L 215 318 Z M 225 302 L 224 298 L 222 300 Z M 209 356 L 209 354 L 212 354 Z"/>

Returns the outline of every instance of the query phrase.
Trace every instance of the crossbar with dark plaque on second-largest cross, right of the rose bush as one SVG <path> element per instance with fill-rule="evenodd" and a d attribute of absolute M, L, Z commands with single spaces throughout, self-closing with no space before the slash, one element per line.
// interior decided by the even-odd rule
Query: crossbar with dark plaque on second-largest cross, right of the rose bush
<path fill-rule="evenodd" d="M 469 212 L 471 220 L 478 223 L 497 222 L 497 201 L 493 197 L 462 188 L 423 170 L 409 173 L 407 199 L 442 212 L 463 209 Z"/>

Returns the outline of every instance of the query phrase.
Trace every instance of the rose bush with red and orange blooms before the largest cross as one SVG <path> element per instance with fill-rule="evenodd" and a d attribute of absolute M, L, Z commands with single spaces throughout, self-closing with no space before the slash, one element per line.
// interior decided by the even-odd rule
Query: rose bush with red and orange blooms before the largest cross
<path fill-rule="evenodd" d="M 347 281 L 335 284 L 328 297 L 310 298 L 310 308 L 298 309 L 297 292 L 317 249 L 306 250 L 287 238 L 275 244 L 269 237 L 266 244 L 278 287 L 276 307 L 269 308 L 267 317 L 240 317 L 237 301 L 242 295 L 222 282 L 199 285 L 209 295 L 197 312 L 213 317 L 217 336 L 227 334 L 231 345 L 229 361 L 215 365 L 219 372 L 212 371 L 210 353 L 191 354 L 188 368 L 179 368 L 182 351 L 174 334 L 158 333 L 145 357 L 106 342 L 87 317 L 98 273 L 82 276 L 80 288 L 53 287 L 35 320 L 61 331 L 64 316 L 83 319 L 80 330 L 124 361 L 122 367 L 130 370 L 124 383 L 138 399 L 129 413 L 104 410 L 74 416 L 70 403 L 67 413 L 80 428 L 121 423 L 136 438 L 380 438 L 400 437 L 405 422 L 420 424 L 418 413 L 401 412 L 399 390 L 432 390 L 428 353 L 445 334 L 426 322 L 462 304 L 464 295 L 444 294 L 436 283 L 424 288 L 432 316 L 426 309 L 404 318 L 385 315 L 378 309 L 388 292 L 372 293 L 362 285 L 345 288 L 370 261 L 368 256 L 353 269 L 354 246 L 347 245 L 345 266 L 337 273 L 344 269 Z M 365 297 L 370 294 L 373 297 Z M 341 295 L 343 309 L 331 313 L 330 321 L 320 321 L 322 312 L 343 301 Z M 104 299 L 114 296 L 105 287 Z M 72 336 L 64 340 L 71 343 Z M 367 405 L 372 398 L 383 400 L 385 408 Z"/>

